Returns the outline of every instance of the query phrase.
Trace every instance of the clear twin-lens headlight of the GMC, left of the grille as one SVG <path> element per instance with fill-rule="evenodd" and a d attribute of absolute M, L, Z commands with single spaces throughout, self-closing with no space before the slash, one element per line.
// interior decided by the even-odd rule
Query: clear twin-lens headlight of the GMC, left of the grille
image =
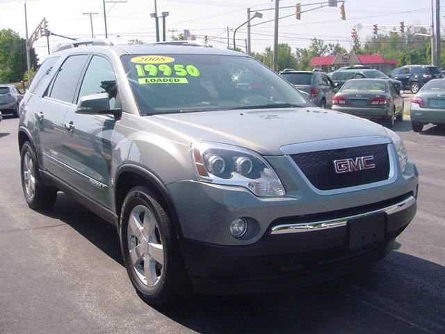
<path fill-rule="evenodd" d="M 194 143 L 193 161 L 203 182 L 243 186 L 257 196 L 284 196 L 284 186 L 268 162 L 244 148 L 218 143 Z"/>

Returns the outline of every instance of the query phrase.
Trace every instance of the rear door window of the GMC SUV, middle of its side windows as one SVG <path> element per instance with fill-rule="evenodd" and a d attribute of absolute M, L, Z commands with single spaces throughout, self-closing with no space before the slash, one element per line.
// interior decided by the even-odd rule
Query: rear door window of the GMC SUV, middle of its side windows
<path fill-rule="evenodd" d="M 49 97 L 72 103 L 79 77 L 88 55 L 79 54 L 68 57 L 57 72 L 56 80 L 51 88 Z"/>

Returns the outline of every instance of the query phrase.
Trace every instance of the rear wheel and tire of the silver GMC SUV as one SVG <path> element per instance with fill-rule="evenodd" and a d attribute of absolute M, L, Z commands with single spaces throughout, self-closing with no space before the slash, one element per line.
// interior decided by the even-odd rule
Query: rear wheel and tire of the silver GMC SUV
<path fill-rule="evenodd" d="M 26 203 L 33 210 L 45 210 L 54 205 L 57 189 L 46 186 L 38 173 L 38 163 L 31 143 L 23 144 L 20 154 L 22 189 Z"/>

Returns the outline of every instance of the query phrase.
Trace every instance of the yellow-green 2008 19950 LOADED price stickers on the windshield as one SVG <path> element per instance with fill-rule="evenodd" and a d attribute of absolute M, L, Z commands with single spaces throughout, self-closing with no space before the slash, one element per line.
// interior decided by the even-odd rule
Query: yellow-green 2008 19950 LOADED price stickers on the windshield
<path fill-rule="evenodd" d="M 200 70 L 193 65 L 168 64 L 175 61 L 166 56 L 139 56 L 131 58 L 138 74 L 139 84 L 188 84 L 186 77 L 199 77 Z M 145 64 L 145 65 L 143 65 Z"/>

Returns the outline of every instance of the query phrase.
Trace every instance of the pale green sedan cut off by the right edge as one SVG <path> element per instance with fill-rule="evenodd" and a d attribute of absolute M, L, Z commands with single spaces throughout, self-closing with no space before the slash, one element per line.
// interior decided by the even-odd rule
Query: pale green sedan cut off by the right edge
<path fill-rule="evenodd" d="M 428 81 L 411 100 L 411 123 L 414 132 L 423 125 L 445 124 L 445 79 Z"/>

